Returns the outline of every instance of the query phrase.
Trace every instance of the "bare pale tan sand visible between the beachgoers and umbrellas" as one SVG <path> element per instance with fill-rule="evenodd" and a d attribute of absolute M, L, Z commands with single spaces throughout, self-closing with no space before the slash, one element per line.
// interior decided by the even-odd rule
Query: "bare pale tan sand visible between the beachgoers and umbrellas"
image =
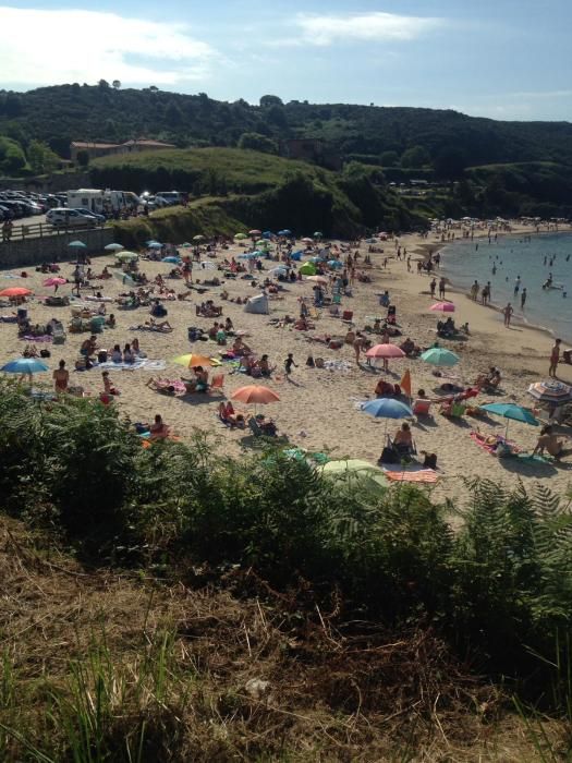
<path fill-rule="evenodd" d="M 518 229 L 514 229 L 518 232 Z M 526 230 L 531 233 L 531 230 Z M 401 246 L 405 246 L 412 255 L 412 261 L 423 256 L 428 245 L 436 251 L 440 240 L 434 237 L 422 239 L 418 235 L 403 235 L 400 239 Z M 429 295 L 429 278 L 427 275 L 417 275 L 415 263 L 412 262 L 413 272 L 407 272 L 404 261 L 395 261 L 394 243 L 385 242 L 384 254 L 372 255 L 374 267 L 369 270 L 372 283 L 353 284 L 353 296 L 344 298 L 342 310 L 353 311 L 353 320 L 358 329 L 372 324 L 372 316 L 385 316 L 385 308 L 378 304 L 376 293 L 389 290 L 391 302 L 397 305 L 398 324 L 402 327 L 403 337 L 395 339 L 400 343 L 404 337 L 411 337 L 422 347 L 429 347 L 436 340 L 435 326 L 440 314 L 429 312 L 433 303 Z M 230 251 L 218 253 L 216 262 L 221 262 L 223 256 L 230 258 L 241 251 L 232 246 Z M 361 245 L 362 256 L 367 253 L 367 244 Z M 389 256 L 387 270 L 381 267 L 382 261 Z M 211 258 L 211 255 L 209 255 Z M 363 262 L 363 261 L 362 261 Z M 100 272 L 104 265 L 111 267 L 113 256 L 95 257 L 92 261 L 94 272 Z M 273 267 L 265 261 L 265 267 Z M 163 263 L 141 262 L 139 269 L 146 272 L 149 279 L 157 274 L 166 277 L 172 266 Z M 35 291 L 35 299 L 27 303 L 28 312 L 34 323 L 46 323 L 56 317 L 68 326 L 71 318 L 70 307 L 47 307 L 40 300 L 53 294 L 53 288 L 42 287 L 46 275 L 26 268 L 29 278 L 7 278 L 7 271 L 0 271 L 0 287 L 2 289 L 12 286 L 25 286 Z M 10 272 L 14 274 L 15 270 Z M 72 278 L 73 264 L 62 264 L 63 277 Z M 194 270 L 194 276 L 200 276 Z M 204 274 L 203 274 L 204 275 Z M 220 274 L 219 274 L 220 275 Z M 167 284 L 173 287 L 177 292 L 185 291 L 182 280 L 167 279 Z M 123 290 L 119 280 L 94 281 L 97 288 L 107 296 L 117 296 Z M 71 283 L 60 287 L 58 295 L 70 294 Z M 234 328 L 246 331 L 245 341 L 261 355 L 268 353 L 272 365 L 277 366 L 273 377 L 263 380 L 261 384 L 270 387 L 280 396 L 280 401 L 264 407 L 264 413 L 271 416 L 281 434 L 285 434 L 292 444 L 311 450 L 327 449 L 333 458 L 360 458 L 376 462 L 384 448 L 384 433 L 394 433 L 400 422 L 386 422 L 373 419 L 356 409 L 356 401 L 374 398 L 374 389 L 377 380 L 382 376 L 380 368 L 373 370 L 355 363 L 352 347 L 345 344 L 340 350 L 330 350 L 318 342 L 308 341 L 313 335 L 330 334 L 343 337 L 348 330 L 339 318 L 331 317 L 328 308 L 321 311 L 320 317 L 315 322 L 315 330 L 301 332 L 291 327 L 276 328 L 269 325 L 271 318 L 283 318 L 284 315 L 297 316 L 299 298 L 312 295 L 311 282 L 299 282 L 287 286 L 281 292 L 283 299 L 271 300 L 270 315 L 253 315 L 244 312 L 242 305 L 231 301 L 221 302 L 219 294 L 222 287 L 210 288 L 200 295 L 193 291 L 192 300 L 184 302 L 166 302 L 168 320 L 174 330 L 171 334 L 157 334 L 148 331 L 133 331 L 130 326 L 142 324 L 149 317 L 149 308 L 141 307 L 135 311 L 122 311 L 117 305 L 108 305 L 107 312 L 113 312 L 117 317 L 117 327 L 106 329 L 98 335 L 98 344 L 110 349 L 119 343 L 121 347 L 138 337 L 142 350 L 149 359 L 162 359 L 168 361 L 167 370 L 155 375 L 170 378 L 179 378 L 181 375 L 191 374 L 180 365 L 171 361 L 174 356 L 186 352 L 217 355 L 221 348 L 215 341 L 198 341 L 190 343 L 187 339 L 188 326 L 209 328 L 214 318 L 200 318 L 195 315 L 195 305 L 205 299 L 212 299 L 216 304 L 223 306 L 223 316 L 230 316 Z M 251 282 L 242 280 L 227 280 L 224 287 L 231 298 L 251 296 L 258 293 Z M 92 291 L 85 291 L 85 294 Z M 483 307 L 473 303 L 465 294 L 448 293 L 447 298 L 454 300 L 457 312 L 454 318 L 458 325 L 468 322 L 471 335 L 465 340 L 440 340 L 440 346 L 453 350 L 461 356 L 460 364 L 453 370 L 466 383 L 474 383 L 477 374 L 495 365 L 502 373 L 503 396 L 480 395 L 476 402 L 485 401 L 514 401 L 527 407 L 533 407 L 535 401 L 526 393 L 532 382 L 547 378 L 548 358 L 553 343 L 552 338 L 546 332 L 531 327 L 511 326 L 503 327 L 502 316 L 492 308 Z M 1 314 L 10 314 L 9 307 L 0 308 Z M 366 316 L 369 316 L 367 318 Z M 48 347 L 51 358 L 47 361 L 50 373 L 39 374 L 35 383 L 50 383 L 51 371 L 58 366 L 58 361 L 66 361 L 70 370 L 70 384 L 81 385 L 92 396 L 98 396 L 102 390 L 101 372 L 97 367 L 88 372 L 74 370 L 78 349 L 84 339 L 89 335 L 68 332 L 63 346 L 38 344 Z M 372 335 L 375 341 L 375 335 Z M 231 340 L 232 341 L 232 340 Z M 16 326 L 13 324 L 0 324 L 0 363 L 17 358 L 22 354 L 25 342 L 17 338 Z M 292 352 L 299 367 L 293 368 L 292 377 L 288 379 L 283 370 L 287 354 Z M 306 359 L 309 354 L 314 358 L 321 356 L 325 360 L 345 361 L 348 370 L 311 368 L 306 367 Z M 365 359 L 363 359 L 365 360 Z M 390 361 L 390 374 L 388 380 L 399 382 L 405 370 L 410 370 L 412 376 L 413 395 L 418 388 L 424 388 L 429 397 L 437 397 L 438 388 L 442 379 L 431 375 L 431 367 L 419 360 Z M 214 370 L 215 373 L 218 370 Z M 224 373 L 224 395 L 229 397 L 233 390 L 247 384 L 259 384 L 243 374 L 229 373 L 224 364 L 221 368 Z M 211 370 L 212 373 L 212 370 Z M 111 371 L 112 383 L 119 388 L 121 395 L 114 400 L 114 405 L 132 422 L 148 422 L 156 413 L 160 413 L 165 422 L 182 439 L 190 438 L 195 428 L 204 429 L 216 437 L 214 447 L 221 455 L 239 455 L 252 449 L 252 435 L 250 432 L 230 431 L 226 428 L 217 417 L 217 409 L 220 396 L 193 395 L 181 398 L 169 398 L 159 395 L 148 387 L 150 374 L 148 371 Z M 559 376 L 563 382 L 572 384 L 572 366 L 560 365 Z M 252 412 L 250 407 L 236 407 L 246 413 Z M 437 486 L 431 486 L 436 499 L 462 498 L 466 495 L 466 486 L 461 477 L 489 477 L 502 483 L 515 484 L 522 480 L 526 486 L 539 482 L 546 487 L 563 494 L 569 486 L 572 459 L 564 459 L 562 464 L 523 463 L 519 459 L 497 459 L 478 448 L 470 437 L 472 428 L 478 427 L 484 434 L 504 432 L 506 422 L 500 419 L 487 419 L 485 421 L 463 417 L 462 420 L 448 420 L 438 413 L 434 407 L 435 415 L 427 421 L 419 421 L 412 425 L 417 450 L 427 450 L 437 453 L 439 480 Z M 511 422 L 510 437 L 520 447 L 532 449 L 538 436 L 538 428 Z"/>

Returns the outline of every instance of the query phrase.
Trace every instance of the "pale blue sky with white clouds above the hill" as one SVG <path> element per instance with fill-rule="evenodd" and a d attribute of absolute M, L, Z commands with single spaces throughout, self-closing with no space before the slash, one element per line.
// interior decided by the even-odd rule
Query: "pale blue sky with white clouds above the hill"
<path fill-rule="evenodd" d="M 570 0 L 0 0 L 0 88 L 123 87 L 572 119 Z"/>

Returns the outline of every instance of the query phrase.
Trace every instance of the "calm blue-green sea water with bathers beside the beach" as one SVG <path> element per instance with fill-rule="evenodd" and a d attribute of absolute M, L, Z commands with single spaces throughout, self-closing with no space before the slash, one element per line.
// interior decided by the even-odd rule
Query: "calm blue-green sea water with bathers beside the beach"
<path fill-rule="evenodd" d="M 490 281 L 492 304 L 503 307 L 510 302 L 515 318 L 548 328 L 572 342 L 572 234 L 533 235 L 531 242 L 519 238 L 503 238 L 490 244 L 487 239 L 459 242 L 441 250 L 441 269 L 454 286 L 468 290 L 475 278 L 480 286 Z M 561 289 L 543 289 L 549 272 L 552 283 Z M 519 276 L 521 288 L 514 295 Z M 521 310 L 523 288 L 526 303 Z"/>

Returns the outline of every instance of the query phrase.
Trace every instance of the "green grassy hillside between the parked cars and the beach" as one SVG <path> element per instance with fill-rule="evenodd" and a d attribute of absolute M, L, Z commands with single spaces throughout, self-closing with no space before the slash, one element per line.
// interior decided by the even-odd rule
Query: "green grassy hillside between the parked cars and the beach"
<path fill-rule="evenodd" d="M 244 227 L 290 228 L 299 234 L 319 229 L 326 235 L 352 238 L 377 227 L 398 231 L 425 225 L 397 194 L 376 183 L 370 169 L 352 165 L 337 173 L 239 148 L 108 157 L 94 162 L 92 179 L 96 186 L 136 193 L 180 189 L 207 196 L 187 210 L 161 210 L 147 221 L 118 226 L 118 237 L 127 244 L 132 235 L 138 243 L 145 241 L 149 231 L 168 241 L 197 232 L 234 233 Z M 215 230 L 214 216 L 220 226 Z"/>

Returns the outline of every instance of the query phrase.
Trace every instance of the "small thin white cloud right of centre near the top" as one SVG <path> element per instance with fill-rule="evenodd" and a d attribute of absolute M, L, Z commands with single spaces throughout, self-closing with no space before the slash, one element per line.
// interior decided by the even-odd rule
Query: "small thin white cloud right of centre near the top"
<path fill-rule="evenodd" d="M 349 40 L 410 41 L 443 26 L 445 20 L 382 12 L 353 15 L 300 13 L 295 24 L 305 44 L 326 46 Z"/>

